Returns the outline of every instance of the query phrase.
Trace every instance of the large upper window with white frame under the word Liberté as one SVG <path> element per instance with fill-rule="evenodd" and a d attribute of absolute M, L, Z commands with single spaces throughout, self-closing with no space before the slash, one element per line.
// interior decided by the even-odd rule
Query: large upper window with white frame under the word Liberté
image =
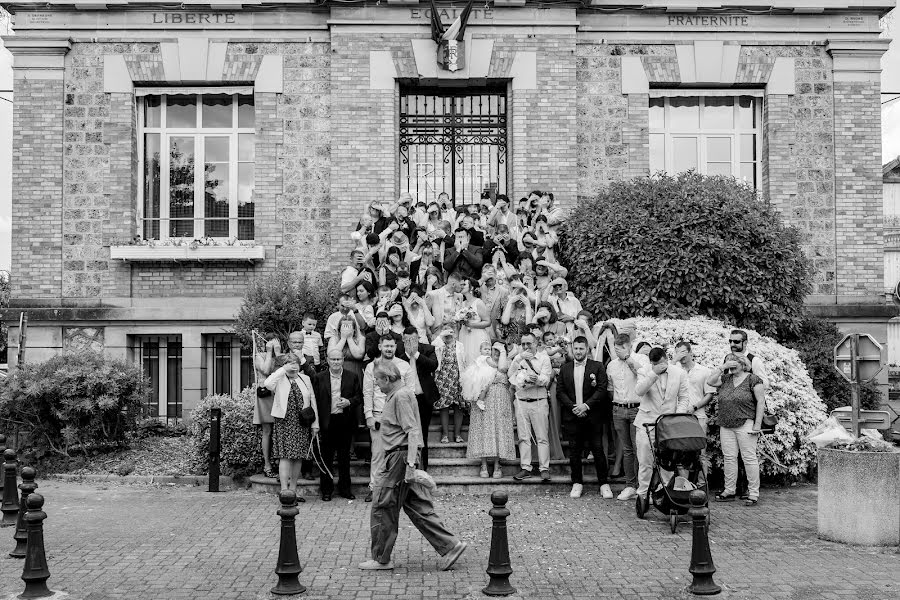
<path fill-rule="evenodd" d="M 140 118 L 143 237 L 254 239 L 253 96 L 144 96 Z"/>

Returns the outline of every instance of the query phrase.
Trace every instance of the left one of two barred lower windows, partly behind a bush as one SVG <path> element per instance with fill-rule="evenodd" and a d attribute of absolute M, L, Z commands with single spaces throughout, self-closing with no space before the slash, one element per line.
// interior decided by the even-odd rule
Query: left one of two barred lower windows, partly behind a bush
<path fill-rule="evenodd" d="M 136 335 L 131 337 L 134 362 L 141 366 L 150 398 L 143 407 L 149 417 L 181 418 L 181 336 Z"/>

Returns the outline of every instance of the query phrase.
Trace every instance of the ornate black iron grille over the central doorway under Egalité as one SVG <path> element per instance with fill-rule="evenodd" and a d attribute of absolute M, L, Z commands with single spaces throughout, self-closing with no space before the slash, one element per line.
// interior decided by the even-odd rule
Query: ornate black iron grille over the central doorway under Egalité
<path fill-rule="evenodd" d="M 400 187 L 456 205 L 506 191 L 506 88 L 400 89 Z"/>

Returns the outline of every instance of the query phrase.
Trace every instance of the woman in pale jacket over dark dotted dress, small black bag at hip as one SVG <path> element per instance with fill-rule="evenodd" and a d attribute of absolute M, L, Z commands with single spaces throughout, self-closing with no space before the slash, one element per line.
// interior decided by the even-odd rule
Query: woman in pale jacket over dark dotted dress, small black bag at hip
<path fill-rule="evenodd" d="M 307 456 L 313 438 L 319 433 L 319 409 L 309 377 L 300 372 L 300 359 L 293 353 L 275 359 L 275 372 L 265 386 L 273 392 L 272 457 L 278 460 L 282 490 L 297 491 L 301 462 Z M 311 408 L 314 418 L 305 419 Z M 309 411 L 306 411 L 309 412 Z M 300 498 L 303 501 L 302 497 Z"/>

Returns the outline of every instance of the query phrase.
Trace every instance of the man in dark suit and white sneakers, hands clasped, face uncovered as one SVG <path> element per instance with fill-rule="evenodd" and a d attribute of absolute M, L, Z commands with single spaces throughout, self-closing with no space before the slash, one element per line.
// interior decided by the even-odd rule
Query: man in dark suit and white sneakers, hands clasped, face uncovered
<path fill-rule="evenodd" d="M 606 454 L 603 451 L 603 424 L 612 420 L 612 400 L 607 391 L 606 370 L 588 358 L 588 341 L 578 336 L 572 342 L 574 362 L 559 370 L 556 398 L 562 415 L 562 428 L 569 440 L 569 465 L 572 470 L 572 498 L 580 498 L 584 490 L 581 457 L 585 448 L 594 453 L 600 494 L 613 497 L 609 487 Z"/>

